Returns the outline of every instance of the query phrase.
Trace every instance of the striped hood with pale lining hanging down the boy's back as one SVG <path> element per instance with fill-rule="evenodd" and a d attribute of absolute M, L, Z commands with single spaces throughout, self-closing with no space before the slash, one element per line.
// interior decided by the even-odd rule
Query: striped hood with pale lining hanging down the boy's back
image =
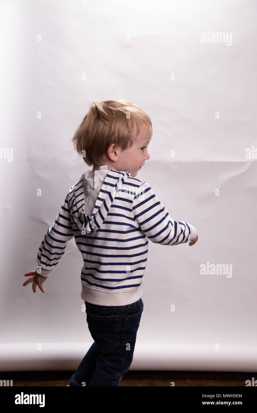
<path fill-rule="evenodd" d="M 97 231 L 124 182 L 132 174 L 114 169 L 85 172 L 71 187 L 71 220 L 82 233 Z M 120 195 L 118 195 L 120 196 Z"/>

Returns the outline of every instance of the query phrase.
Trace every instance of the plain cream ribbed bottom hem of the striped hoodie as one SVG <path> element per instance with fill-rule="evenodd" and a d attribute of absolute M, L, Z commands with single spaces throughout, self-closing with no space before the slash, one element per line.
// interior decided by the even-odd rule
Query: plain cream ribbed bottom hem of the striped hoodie
<path fill-rule="evenodd" d="M 126 306 L 138 301 L 143 294 L 143 282 L 135 289 L 124 292 L 105 292 L 82 284 L 81 298 L 98 306 Z"/>

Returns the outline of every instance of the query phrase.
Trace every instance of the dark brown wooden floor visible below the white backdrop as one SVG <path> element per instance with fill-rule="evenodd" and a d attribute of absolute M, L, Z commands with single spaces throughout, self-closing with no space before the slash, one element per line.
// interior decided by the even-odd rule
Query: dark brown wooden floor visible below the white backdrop
<path fill-rule="evenodd" d="M 13 386 L 66 386 L 75 371 L 1 372 L 2 380 L 13 380 Z M 128 371 L 120 386 L 243 386 L 257 373 Z"/>

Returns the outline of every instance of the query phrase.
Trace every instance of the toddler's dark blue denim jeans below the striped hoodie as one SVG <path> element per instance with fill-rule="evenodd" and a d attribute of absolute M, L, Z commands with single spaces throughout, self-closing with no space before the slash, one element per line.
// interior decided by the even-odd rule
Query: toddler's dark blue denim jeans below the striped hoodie
<path fill-rule="evenodd" d="M 94 343 L 69 379 L 70 386 L 119 386 L 132 363 L 144 309 L 140 298 L 126 306 L 99 306 L 85 301 Z"/>

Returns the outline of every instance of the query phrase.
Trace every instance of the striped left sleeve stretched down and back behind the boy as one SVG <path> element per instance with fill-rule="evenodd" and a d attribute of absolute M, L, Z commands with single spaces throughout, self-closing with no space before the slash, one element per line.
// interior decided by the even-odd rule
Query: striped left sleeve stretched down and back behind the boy
<path fill-rule="evenodd" d="M 43 277 L 49 277 L 57 266 L 59 259 L 64 255 L 68 240 L 74 236 L 71 227 L 71 212 L 69 194 L 66 195 L 53 225 L 47 230 L 42 240 L 37 257 L 37 265 L 41 267 Z"/>

